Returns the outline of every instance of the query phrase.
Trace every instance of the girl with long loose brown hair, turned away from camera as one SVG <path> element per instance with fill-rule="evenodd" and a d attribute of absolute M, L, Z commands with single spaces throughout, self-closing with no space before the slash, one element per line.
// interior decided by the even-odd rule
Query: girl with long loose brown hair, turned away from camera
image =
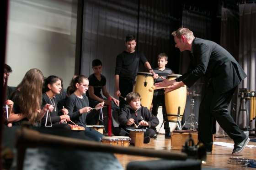
<path fill-rule="evenodd" d="M 47 110 L 53 111 L 50 104 L 41 109 L 42 87 L 43 73 L 37 68 L 30 69 L 11 94 L 10 100 L 14 105 L 7 123 L 21 125 L 26 120 L 34 126 L 40 126 L 40 120 Z"/>

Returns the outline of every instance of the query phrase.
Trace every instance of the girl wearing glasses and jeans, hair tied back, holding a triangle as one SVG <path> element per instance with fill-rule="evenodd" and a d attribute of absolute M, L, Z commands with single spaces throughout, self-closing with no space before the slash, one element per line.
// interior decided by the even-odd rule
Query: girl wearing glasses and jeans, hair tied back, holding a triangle
<path fill-rule="evenodd" d="M 78 75 L 73 78 L 70 83 L 70 96 L 67 100 L 67 109 L 69 111 L 70 119 L 77 125 L 85 127 L 85 135 L 100 142 L 100 139 L 104 136 L 98 131 L 86 127 L 86 116 L 93 118 L 99 112 L 99 109 L 104 106 L 104 102 L 95 106 L 98 109 L 92 109 L 89 107 L 89 100 L 85 95 L 88 90 L 89 81 L 84 75 Z M 87 115 L 88 114 L 88 115 Z"/>

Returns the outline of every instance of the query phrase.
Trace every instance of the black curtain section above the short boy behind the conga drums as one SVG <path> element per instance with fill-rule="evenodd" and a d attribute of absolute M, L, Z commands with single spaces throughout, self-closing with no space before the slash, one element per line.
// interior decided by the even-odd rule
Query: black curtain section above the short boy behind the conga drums
<path fill-rule="evenodd" d="M 162 52 L 168 56 L 165 67 L 173 70 L 174 63 L 177 65 L 179 62 L 179 57 L 172 52 L 175 45 L 171 32 L 180 25 L 180 21 L 170 10 L 173 6 L 172 0 L 140 0 L 137 46 L 153 68 L 158 67 L 157 57 Z M 147 72 L 144 66 L 140 67 L 140 71 Z"/>

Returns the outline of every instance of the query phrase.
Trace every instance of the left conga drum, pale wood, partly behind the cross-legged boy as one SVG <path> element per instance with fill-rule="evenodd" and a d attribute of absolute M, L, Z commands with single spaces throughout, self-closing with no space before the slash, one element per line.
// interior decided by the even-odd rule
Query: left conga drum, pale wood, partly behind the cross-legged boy
<path fill-rule="evenodd" d="M 149 72 L 137 72 L 133 92 L 139 93 L 141 96 L 141 105 L 150 109 L 154 91 L 149 92 L 149 88 L 154 86 L 153 74 Z"/>

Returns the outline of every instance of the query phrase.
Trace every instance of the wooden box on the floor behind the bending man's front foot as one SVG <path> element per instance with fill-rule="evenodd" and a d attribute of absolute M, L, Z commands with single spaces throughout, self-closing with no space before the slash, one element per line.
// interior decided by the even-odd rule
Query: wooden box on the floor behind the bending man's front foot
<path fill-rule="evenodd" d="M 194 144 L 197 144 L 198 134 L 191 133 Z M 172 149 L 182 149 L 182 145 L 185 144 L 186 140 L 189 138 L 189 133 L 171 133 L 171 148 Z M 214 139 L 214 136 L 213 136 Z M 213 150 L 213 148 L 212 148 Z"/>

